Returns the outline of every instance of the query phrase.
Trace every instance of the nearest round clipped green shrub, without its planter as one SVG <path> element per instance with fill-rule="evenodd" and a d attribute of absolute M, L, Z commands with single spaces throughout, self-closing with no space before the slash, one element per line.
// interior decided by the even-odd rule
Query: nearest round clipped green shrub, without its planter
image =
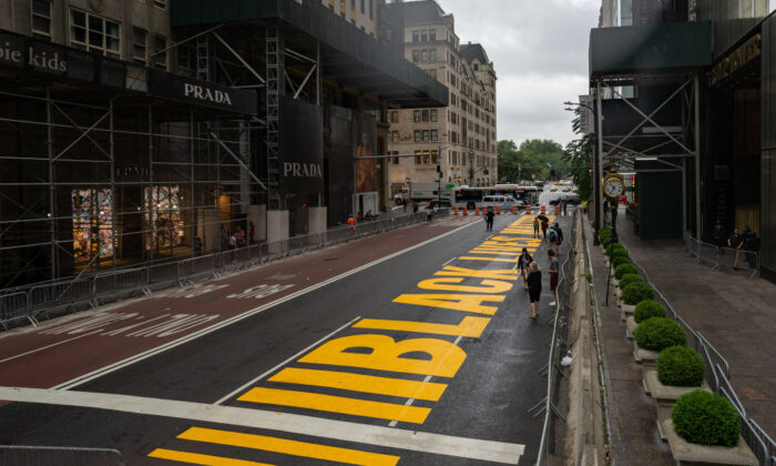
<path fill-rule="evenodd" d="M 671 409 L 671 421 L 676 434 L 690 443 L 726 447 L 738 444 L 738 412 L 715 393 L 697 391 L 680 396 Z"/>

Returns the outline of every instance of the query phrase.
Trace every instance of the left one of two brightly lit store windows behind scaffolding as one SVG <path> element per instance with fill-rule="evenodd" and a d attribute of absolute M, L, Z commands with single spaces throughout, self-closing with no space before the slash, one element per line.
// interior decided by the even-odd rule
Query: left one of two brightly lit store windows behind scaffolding
<path fill-rule="evenodd" d="M 113 256 L 113 191 L 73 190 L 73 262 L 89 264 Z"/>

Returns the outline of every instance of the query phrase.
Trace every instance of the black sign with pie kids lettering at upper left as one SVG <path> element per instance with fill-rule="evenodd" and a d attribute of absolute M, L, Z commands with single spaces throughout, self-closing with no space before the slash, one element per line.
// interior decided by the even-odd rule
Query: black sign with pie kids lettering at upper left
<path fill-rule="evenodd" d="M 123 88 L 124 63 L 96 53 L 0 31 L 0 67 Z"/>

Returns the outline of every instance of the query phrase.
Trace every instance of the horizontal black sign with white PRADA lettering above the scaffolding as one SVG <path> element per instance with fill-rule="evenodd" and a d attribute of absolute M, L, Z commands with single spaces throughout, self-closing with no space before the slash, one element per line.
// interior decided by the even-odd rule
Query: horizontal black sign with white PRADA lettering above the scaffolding
<path fill-rule="evenodd" d="M 258 98 L 253 92 L 154 69 L 149 70 L 149 95 L 235 113 L 258 112 Z"/>

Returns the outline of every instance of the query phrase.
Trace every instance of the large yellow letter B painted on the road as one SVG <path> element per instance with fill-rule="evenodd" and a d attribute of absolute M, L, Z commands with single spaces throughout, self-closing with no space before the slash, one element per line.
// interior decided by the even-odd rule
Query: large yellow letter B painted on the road
<path fill-rule="evenodd" d="M 370 353 L 348 352 L 355 348 L 367 348 Z M 409 353 L 426 353 L 431 358 L 401 357 Z M 350 335 L 324 343 L 299 362 L 452 377 L 463 359 L 463 350 L 445 340 L 413 338 L 396 342 L 386 335 Z"/>

